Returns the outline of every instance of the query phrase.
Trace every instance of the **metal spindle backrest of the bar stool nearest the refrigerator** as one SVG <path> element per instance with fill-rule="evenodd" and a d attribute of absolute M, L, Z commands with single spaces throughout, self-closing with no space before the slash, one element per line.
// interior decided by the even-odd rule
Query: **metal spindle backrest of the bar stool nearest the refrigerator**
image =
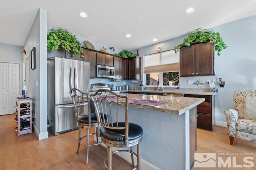
<path fill-rule="evenodd" d="M 71 89 L 69 92 L 74 104 L 74 110 L 76 113 L 76 119 L 80 115 L 88 115 L 88 124 L 91 123 L 90 105 L 88 105 L 89 97 L 87 93 L 84 93 L 76 88 Z"/>

